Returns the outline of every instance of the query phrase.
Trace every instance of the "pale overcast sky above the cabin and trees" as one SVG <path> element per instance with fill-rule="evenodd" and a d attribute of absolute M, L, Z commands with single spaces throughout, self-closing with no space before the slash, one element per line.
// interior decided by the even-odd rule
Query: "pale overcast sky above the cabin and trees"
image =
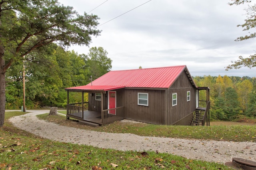
<path fill-rule="evenodd" d="M 59 0 L 83 14 L 106 0 Z M 108 0 L 92 12 L 103 24 L 148 0 Z M 187 65 L 192 76 L 256 77 L 256 68 L 225 71 L 238 56 L 256 50 L 256 40 L 235 42 L 246 35 L 242 28 L 246 6 L 229 6 L 229 0 L 151 0 L 98 27 L 101 36 L 90 47 L 103 47 L 112 70 Z M 90 47 L 72 46 L 78 54 Z"/>

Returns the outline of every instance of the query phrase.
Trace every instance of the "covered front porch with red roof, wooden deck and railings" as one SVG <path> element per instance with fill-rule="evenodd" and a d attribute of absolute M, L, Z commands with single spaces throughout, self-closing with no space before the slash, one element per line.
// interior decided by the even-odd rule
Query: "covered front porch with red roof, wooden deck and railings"
<path fill-rule="evenodd" d="M 116 107 L 115 105 L 115 107 L 111 108 L 111 101 L 108 99 L 108 96 L 110 96 L 109 91 L 118 88 L 123 87 L 80 86 L 66 88 L 68 94 L 66 118 L 69 119 L 71 117 L 81 122 L 86 121 L 100 126 L 124 119 L 124 107 Z M 80 92 L 82 102 L 70 104 L 70 92 Z M 84 95 L 88 95 L 88 101 L 84 101 Z M 116 97 L 116 95 L 111 95 L 111 97 Z"/>

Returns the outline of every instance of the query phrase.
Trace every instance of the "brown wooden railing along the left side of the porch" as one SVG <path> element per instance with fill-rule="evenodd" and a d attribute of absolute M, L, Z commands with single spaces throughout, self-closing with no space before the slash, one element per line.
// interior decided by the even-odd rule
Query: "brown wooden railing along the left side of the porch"
<path fill-rule="evenodd" d="M 82 113 L 82 103 L 74 103 L 67 105 L 67 117 L 84 119 L 84 114 Z M 84 111 L 88 110 L 88 102 L 84 102 Z"/>

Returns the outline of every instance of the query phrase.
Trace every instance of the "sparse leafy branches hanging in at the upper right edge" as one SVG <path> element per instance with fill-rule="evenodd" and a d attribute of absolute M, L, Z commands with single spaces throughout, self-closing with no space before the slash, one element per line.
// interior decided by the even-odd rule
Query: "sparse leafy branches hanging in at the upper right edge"
<path fill-rule="evenodd" d="M 240 5 L 244 3 L 250 3 L 251 0 L 232 0 L 233 3 L 230 3 L 230 5 Z M 248 40 L 251 38 L 256 37 L 256 32 L 250 32 L 250 30 L 254 31 L 256 28 L 256 4 L 250 5 L 248 4 L 248 8 L 246 8 L 247 11 L 247 19 L 245 20 L 245 23 L 242 25 L 238 25 L 238 27 L 244 28 L 243 31 L 249 31 L 249 35 L 246 36 L 240 36 L 235 41 L 243 41 Z M 239 56 L 239 59 L 237 61 L 231 61 L 231 65 L 228 65 L 226 67 L 226 70 L 229 69 L 239 69 L 241 67 L 256 67 L 256 54 L 250 55 L 249 57 L 242 57 Z"/>

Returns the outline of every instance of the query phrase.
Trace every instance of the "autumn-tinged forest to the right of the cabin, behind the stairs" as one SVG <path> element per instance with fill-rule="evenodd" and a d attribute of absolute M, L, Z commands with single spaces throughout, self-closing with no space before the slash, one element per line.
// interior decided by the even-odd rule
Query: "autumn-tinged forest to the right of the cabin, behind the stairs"
<path fill-rule="evenodd" d="M 256 117 L 256 78 L 237 76 L 195 76 L 197 86 L 210 87 L 210 119 L 231 121 Z M 202 99 L 204 98 L 204 95 Z"/>

